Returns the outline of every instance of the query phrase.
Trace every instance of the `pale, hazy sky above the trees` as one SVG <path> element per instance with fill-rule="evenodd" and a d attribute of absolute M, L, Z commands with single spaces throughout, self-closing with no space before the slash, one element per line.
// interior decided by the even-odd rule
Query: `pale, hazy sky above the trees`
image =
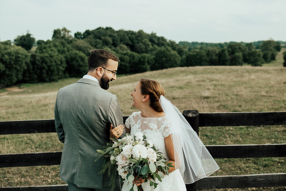
<path fill-rule="evenodd" d="M 0 0 L 0 41 L 112 27 L 188 42 L 286 41 L 285 0 Z"/>

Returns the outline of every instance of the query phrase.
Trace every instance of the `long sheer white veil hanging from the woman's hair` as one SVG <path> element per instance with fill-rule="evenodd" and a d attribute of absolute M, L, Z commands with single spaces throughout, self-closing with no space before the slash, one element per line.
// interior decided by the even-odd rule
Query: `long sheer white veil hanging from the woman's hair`
<path fill-rule="evenodd" d="M 219 166 L 178 108 L 162 95 L 159 102 L 170 121 L 175 167 L 184 183 L 193 183 L 217 171 Z"/>

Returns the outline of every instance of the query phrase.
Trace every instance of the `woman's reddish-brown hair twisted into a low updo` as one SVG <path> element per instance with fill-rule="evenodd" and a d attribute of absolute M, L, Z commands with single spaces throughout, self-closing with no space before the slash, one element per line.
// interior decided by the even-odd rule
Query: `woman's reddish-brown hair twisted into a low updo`
<path fill-rule="evenodd" d="M 159 99 L 161 95 L 165 95 L 165 91 L 161 84 L 156 80 L 147 78 L 141 78 L 139 82 L 141 85 L 141 94 L 148 94 L 150 96 L 150 107 L 152 107 L 155 111 L 163 112 Z"/>

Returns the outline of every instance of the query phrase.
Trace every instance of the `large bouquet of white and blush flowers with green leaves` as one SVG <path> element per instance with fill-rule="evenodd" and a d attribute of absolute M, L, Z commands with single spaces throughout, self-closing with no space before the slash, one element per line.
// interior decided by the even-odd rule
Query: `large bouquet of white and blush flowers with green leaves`
<path fill-rule="evenodd" d="M 143 133 L 135 135 L 126 134 L 122 139 L 110 138 L 112 143 L 107 143 L 103 150 L 97 150 L 99 160 L 104 156 L 104 164 L 99 173 L 104 174 L 108 170 L 108 176 L 111 176 L 110 186 L 114 189 L 115 180 L 117 177 L 116 170 L 120 175 L 120 182 L 128 181 L 132 184 L 134 176 L 145 179 L 149 178 L 150 186 L 157 187 L 156 178 L 162 182 L 164 178 L 163 171 L 168 175 L 169 167 L 172 163 L 163 161 L 166 160 L 158 150 L 156 150 L 152 141 L 146 140 Z M 137 180 L 137 179 L 136 179 Z M 130 190 L 143 190 L 142 186 L 134 186 Z"/>

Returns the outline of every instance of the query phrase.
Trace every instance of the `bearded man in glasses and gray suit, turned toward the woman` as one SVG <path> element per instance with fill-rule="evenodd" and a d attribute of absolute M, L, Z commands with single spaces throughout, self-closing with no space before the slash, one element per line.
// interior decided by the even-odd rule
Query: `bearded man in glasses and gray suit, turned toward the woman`
<path fill-rule="evenodd" d="M 109 51 L 91 51 L 88 74 L 57 93 L 55 128 L 64 143 L 59 175 L 69 190 L 110 190 L 110 177 L 98 174 L 103 160 L 94 160 L 96 149 L 124 129 L 117 97 L 106 91 L 116 80 L 118 61 Z M 114 190 L 120 190 L 119 181 Z"/>

